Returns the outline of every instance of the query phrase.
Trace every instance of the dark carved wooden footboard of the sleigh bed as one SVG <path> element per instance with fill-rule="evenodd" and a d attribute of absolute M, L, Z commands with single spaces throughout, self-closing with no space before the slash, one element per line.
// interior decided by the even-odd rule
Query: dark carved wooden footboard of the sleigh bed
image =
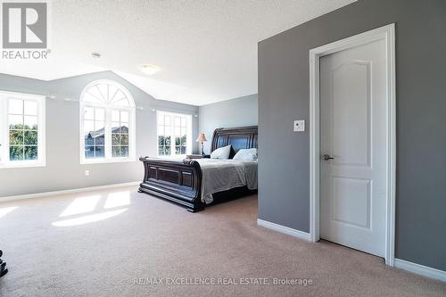
<path fill-rule="evenodd" d="M 139 158 L 145 177 L 139 192 L 177 202 L 195 212 L 204 208 L 201 201 L 202 169 L 194 160 L 169 161 Z"/>

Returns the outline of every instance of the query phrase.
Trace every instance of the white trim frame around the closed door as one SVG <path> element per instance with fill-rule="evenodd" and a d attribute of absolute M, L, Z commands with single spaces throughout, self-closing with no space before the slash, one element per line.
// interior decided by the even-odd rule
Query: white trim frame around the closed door
<path fill-rule="evenodd" d="M 387 79 L 387 197 L 385 223 L 385 264 L 394 265 L 395 259 L 395 185 L 396 185 L 396 86 L 395 86 L 395 24 L 372 29 L 353 37 L 335 41 L 310 50 L 310 241 L 319 240 L 320 190 L 320 73 L 319 60 L 327 54 L 385 40 Z"/>

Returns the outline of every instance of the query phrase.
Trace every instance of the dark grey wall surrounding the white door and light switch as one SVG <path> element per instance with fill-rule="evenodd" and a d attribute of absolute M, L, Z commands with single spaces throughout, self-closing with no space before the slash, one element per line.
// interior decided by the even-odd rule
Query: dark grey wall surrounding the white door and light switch
<path fill-rule="evenodd" d="M 259 43 L 259 217 L 309 232 L 310 49 L 393 22 L 396 257 L 446 270 L 444 0 L 359 0 Z"/>

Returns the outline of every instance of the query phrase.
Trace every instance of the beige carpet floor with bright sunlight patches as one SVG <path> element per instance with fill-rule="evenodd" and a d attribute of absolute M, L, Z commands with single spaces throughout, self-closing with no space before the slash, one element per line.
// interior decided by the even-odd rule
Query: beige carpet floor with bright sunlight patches
<path fill-rule="evenodd" d="M 0 203 L 0 296 L 446 296 L 446 284 L 256 219 L 256 196 L 193 214 L 134 188 Z"/>

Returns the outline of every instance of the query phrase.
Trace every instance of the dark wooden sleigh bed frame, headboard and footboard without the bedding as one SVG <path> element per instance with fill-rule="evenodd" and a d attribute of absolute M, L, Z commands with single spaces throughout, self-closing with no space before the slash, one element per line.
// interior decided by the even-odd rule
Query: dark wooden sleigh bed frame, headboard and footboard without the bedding
<path fill-rule="evenodd" d="M 214 131 L 211 152 L 219 147 L 231 144 L 232 159 L 239 150 L 257 148 L 257 126 L 240 128 L 218 128 Z M 202 170 L 198 161 L 171 161 L 150 157 L 139 158 L 145 168 L 145 177 L 139 186 L 139 192 L 151 194 L 159 198 L 186 206 L 192 212 L 203 210 L 202 202 Z M 246 187 L 235 188 L 214 194 L 214 202 L 231 200 L 234 196 L 251 194 Z"/>

